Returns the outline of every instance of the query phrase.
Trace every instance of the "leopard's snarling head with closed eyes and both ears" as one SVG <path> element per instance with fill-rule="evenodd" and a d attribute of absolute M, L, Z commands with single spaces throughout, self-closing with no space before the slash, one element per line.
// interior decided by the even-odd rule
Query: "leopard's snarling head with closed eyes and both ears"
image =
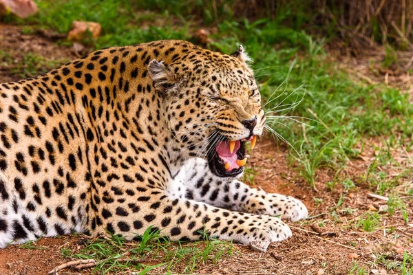
<path fill-rule="evenodd" d="M 163 98 L 169 146 L 182 157 L 206 158 L 219 177 L 239 177 L 245 144 L 255 145 L 265 123 L 249 58 L 242 46 L 231 56 L 195 49 L 186 58 L 148 66 Z"/>

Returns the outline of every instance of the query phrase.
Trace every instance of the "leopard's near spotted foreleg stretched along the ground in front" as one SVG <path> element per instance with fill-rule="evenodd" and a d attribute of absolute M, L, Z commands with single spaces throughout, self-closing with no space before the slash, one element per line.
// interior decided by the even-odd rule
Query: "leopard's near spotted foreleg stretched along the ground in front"
<path fill-rule="evenodd" d="M 145 200 L 149 194 L 151 199 Z M 161 189 L 139 195 L 136 203 L 121 202 L 115 210 L 105 207 L 101 226 L 93 232 L 107 231 L 133 239 L 152 226 L 152 230 L 160 230 L 171 241 L 199 240 L 207 232 L 209 236 L 248 244 L 262 252 L 269 243 L 292 235 L 288 225 L 277 217 L 231 212 L 207 203 L 174 198 Z"/>

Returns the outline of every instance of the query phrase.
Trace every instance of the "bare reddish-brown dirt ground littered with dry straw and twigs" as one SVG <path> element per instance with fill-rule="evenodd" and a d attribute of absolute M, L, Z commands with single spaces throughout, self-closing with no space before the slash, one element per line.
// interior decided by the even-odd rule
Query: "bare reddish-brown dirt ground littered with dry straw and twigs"
<path fill-rule="evenodd" d="M 47 60 L 76 57 L 71 47 L 56 45 L 50 35 L 22 34 L 21 28 L 8 25 L 0 25 L 0 50 L 13 52 L 13 58 L 21 58 L 28 53 L 39 54 Z M 0 82 L 17 80 L 17 76 L 8 72 L 10 65 L 0 61 Z M 372 140 L 371 143 L 380 145 L 379 140 Z M 412 153 L 409 156 L 404 151 L 393 153 L 405 164 L 413 157 Z M 346 170 L 341 173 L 351 179 L 359 179 L 360 175 L 366 174 L 373 156 L 373 146 L 365 146 L 361 157 L 350 160 Z M 289 164 L 286 147 L 268 138 L 257 141 L 257 147 L 248 159 L 248 166 L 255 171 L 255 175 L 248 178 L 249 184 L 268 192 L 301 199 L 310 211 L 310 218 L 290 223 L 293 237 L 282 243 L 272 243 L 267 253 L 253 252 L 243 245 L 234 244 L 233 255 L 223 256 L 215 264 L 209 261 L 202 263 L 195 270 L 198 274 L 349 274 L 354 262 L 370 274 L 398 274 L 377 264 L 377 258 L 382 256 L 401 264 L 404 251 L 413 253 L 413 224 L 411 221 L 410 224 L 405 223 L 399 210 L 390 218 L 386 214 L 381 215 L 381 230 L 364 232 L 356 228 L 361 214 L 368 210 L 378 211 L 386 204 L 382 199 L 369 197 L 368 184 L 359 184 L 358 180 L 357 186 L 351 190 L 344 190 L 341 185 L 330 190 L 327 182 L 334 179 L 335 173 L 325 168 L 317 172 L 316 191 L 299 175 L 297 167 Z M 392 166 L 382 168 L 393 171 L 394 177 L 398 171 L 397 167 Z M 413 181 L 401 181 L 398 188 L 411 220 L 413 201 L 403 192 L 412 188 Z M 340 198 L 343 202 L 337 207 Z M 335 219 L 330 216 L 333 210 L 337 212 Z M 391 233 L 385 231 L 390 228 L 394 228 Z M 82 240 L 82 236 L 43 238 L 36 242 L 36 246 L 45 248 L 43 250 L 10 245 L 0 250 L 0 274 L 47 274 L 57 265 L 70 261 L 63 259 L 61 249 L 81 250 Z M 161 262 L 160 259 L 153 259 L 151 264 Z M 177 265 L 174 271 L 182 272 L 182 268 Z M 163 274 L 166 270 L 159 267 L 152 272 Z M 65 270 L 59 274 L 91 274 L 91 271 Z"/>

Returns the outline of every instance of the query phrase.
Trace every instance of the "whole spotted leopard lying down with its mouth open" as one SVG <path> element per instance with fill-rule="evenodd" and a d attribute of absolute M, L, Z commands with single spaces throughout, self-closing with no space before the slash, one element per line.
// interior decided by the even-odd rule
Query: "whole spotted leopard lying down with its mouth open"
<path fill-rule="evenodd" d="M 288 239 L 304 203 L 239 180 L 266 121 L 250 61 L 164 40 L 0 84 L 0 248 L 148 228 L 260 252 Z"/>

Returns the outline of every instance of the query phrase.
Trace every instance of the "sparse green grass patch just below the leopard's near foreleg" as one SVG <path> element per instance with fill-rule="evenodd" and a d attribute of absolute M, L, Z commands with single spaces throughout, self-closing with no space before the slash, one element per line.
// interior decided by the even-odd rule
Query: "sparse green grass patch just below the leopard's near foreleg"
<path fill-rule="evenodd" d="M 74 251 L 71 248 L 62 248 L 65 258 L 94 259 L 98 265 L 94 272 L 98 274 L 119 272 L 139 272 L 146 274 L 156 267 L 171 272 L 180 265 L 183 272 L 191 274 L 202 263 L 215 264 L 223 256 L 230 256 L 233 252 L 232 243 L 211 239 L 204 234 L 204 241 L 198 242 L 169 242 L 162 238 L 159 231 L 149 227 L 142 236 L 138 236 L 139 243 L 126 241 L 123 237 L 114 235 L 110 239 L 91 239 L 84 243 L 84 248 Z M 30 247 L 32 248 L 32 243 Z M 134 260 L 149 256 L 149 262 L 137 263 Z M 124 262 L 119 259 L 130 259 Z M 182 267 L 183 265 L 183 267 Z"/>

